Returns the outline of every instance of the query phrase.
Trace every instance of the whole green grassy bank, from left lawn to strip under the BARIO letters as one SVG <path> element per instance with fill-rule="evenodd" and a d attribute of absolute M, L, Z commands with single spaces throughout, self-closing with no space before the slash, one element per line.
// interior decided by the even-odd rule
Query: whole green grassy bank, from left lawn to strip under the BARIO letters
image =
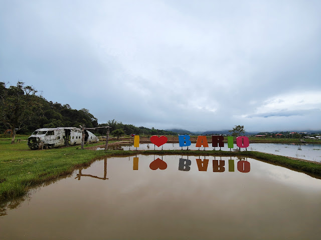
<path fill-rule="evenodd" d="M 95 143 L 87 146 L 102 144 Z M 299 161 L 285 156 L 266 154 L 256 151 L 220 151 L 220 150 L 89 150 L 80 146 L 70 146 L 47 150 L 30 150 L 26 141 L 11 144 L 10 139 L 0 141 L 0 201 L 25 194 L 32 186 L 68 175 L 82 165 L 88 165 L 95 159 L 111 155 L 135 154 L 177 154 L 177 155 L 215 155 L 245 156 L 272 164 L 302 171 L 321 178 L 321 164 Z"/>

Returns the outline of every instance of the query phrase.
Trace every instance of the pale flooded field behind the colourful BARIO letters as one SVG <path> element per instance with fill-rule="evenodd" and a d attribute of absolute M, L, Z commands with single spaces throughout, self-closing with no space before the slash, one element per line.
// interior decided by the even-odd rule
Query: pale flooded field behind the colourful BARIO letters
<path fill-rule="evenodd" d="M 209 144 L 209 147 L 206 147 L 206 150 L 213 150 L 214 147 L 211 146 L 211 143 Z M 110 146 L 112 147 L 112 146 Z M 127 145 L 117 145 L 117 147 L 121 147 L 124 150 L 133 150 L 136 149 L 132 144 Z M 182 149 L 180 147 L 179 143 L 165 143 L 163 146 L 154 146 L 152 143 L 142 143 L 139 144 L 139 147 L 137 147 L 138 150 L 148 150 L 148 149 L 164 149 L 164 150 L 174 150 L 174 149 Z M 236 144 L 234 144 L 234 148 L 238 148 Z M 102 149 L 102 148 L 101 148 Z M 183 149 L 187 149 L 187 147 L 183 147 Z M 196 147 L 195 143 L 192 143 L 191 146 L 189 146 L 190 150 L 204 150 L 204 147 Z M 227 143 L 224 143 L 224 147 L 215 147 L 216 150 L 224 150 L 229 151 L 230 148 L 227 147 Z M 245 150 L 244 148 L 242 150 Z M 282 156 L 290 156 L 290 157 L 296 157 L 296 158 L 302 158 L 310 161 L 317 161 L 321 162 L 321 145 L 320 144 L 307 144 L 307 143 L 301 143 L 301 144 L 295 144 L 295 143 L 250 143 L 250 146 L 247 147 L 247 150 L 253 150 L 253 151 L 262 151 L 266 153 L 272 153 L 276 155 L 282 155 Z"/>

